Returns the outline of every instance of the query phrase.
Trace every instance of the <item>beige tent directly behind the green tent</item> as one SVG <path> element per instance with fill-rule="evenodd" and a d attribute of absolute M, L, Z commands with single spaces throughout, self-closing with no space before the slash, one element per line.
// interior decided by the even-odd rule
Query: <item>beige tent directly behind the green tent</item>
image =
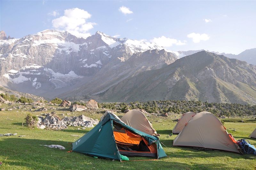
<path fill-rule="evenodd" d="M 148 121 L 147 117 L 138 109 L 132 109 L 128 111 L 121 118 L 121 120 L 134 129 L 140 130 L 149 135 L 156 135 L 156 130 L 152 127 L 152 124 Z"/>

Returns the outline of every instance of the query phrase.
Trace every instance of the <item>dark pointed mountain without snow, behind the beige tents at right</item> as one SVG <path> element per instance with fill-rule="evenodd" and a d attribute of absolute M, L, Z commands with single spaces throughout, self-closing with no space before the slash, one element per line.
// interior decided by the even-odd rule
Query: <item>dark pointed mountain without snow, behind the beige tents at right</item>
<path fill-rule="evenodd" d="M 255 103 L 256 68 L 201 51 L 161 69 L 126 78 L 98 95 L 103 101 L 201 100 Z"/>

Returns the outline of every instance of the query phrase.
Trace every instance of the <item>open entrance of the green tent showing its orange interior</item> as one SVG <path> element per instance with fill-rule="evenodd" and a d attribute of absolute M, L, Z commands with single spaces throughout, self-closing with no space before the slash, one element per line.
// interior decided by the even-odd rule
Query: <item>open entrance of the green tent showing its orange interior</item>
<path fill-rule="evenodd" d="M 157 157 L 156 144 L 148 146 L 148 141 L 138 134 L 113 122 L 113 133 L 120 154 L 125 156 Z"/>

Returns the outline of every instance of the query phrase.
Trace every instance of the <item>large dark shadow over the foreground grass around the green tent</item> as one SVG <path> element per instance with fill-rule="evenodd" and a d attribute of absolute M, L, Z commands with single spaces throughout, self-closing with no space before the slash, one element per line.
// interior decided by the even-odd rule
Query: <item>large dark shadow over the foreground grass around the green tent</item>
<path fill-rule="evenodd" d="M 81 153 L 67 151 L 71 150 L 72 145 L 68 142 L 53 141 L 53 140 L 38 140 L 24 138 L 1 138 L 0 161 L 3 162 L 3 167 L 13 166 L 13 168 L 26 169 L 120 169 L 121 166 L 128 166 L 129 169 L 230 169 L 228 164 L 204 164 L 204 162 L 195 162 L 192 165 L 182 162 L 175 162 L 170 159 L 188 159 L 188 158 L 210 158 L 228 156 L 231 158 L 255 159 L 255 157 L 242 157 L 238 154 L 228 152 L 202 152 L 189 148 L 181 148 L 181 151 L 171 152 L 166 151 L 167 158 L 162 158 L 156 161 L 111 161 L 108 159 L 95 159 L 91 156 L 86 156 Z M 171 142 L 171 141 L 170 141 Z M 52 149 L 40 145 L 59 144 L 66 150 Z M 5 159 L 6 158 L 6 159 Z M 129 157 L 130 160 L 148 159 L 141 157 Z M 2 160 L 1 160 L 2 159 Z M 177 160 L 176 160 L 177 161 Z"/>

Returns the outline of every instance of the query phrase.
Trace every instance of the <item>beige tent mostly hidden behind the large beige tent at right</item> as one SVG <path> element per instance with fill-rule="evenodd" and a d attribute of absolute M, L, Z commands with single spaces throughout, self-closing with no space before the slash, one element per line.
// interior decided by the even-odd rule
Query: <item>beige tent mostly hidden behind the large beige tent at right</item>
<path fill-rule="evenodd" d="M 174 128 L 172 129 L 172 133 L 180 133 L 181 130 L 184 128 L 184 126 L 188 123 L 188 121 L 190 121 L 190 119 L 195 115 L 196 115 L 196 113 L 194 113 L 194 112 L 184 113 L 180 117 L 179 121 L 176 123 Z"/>

